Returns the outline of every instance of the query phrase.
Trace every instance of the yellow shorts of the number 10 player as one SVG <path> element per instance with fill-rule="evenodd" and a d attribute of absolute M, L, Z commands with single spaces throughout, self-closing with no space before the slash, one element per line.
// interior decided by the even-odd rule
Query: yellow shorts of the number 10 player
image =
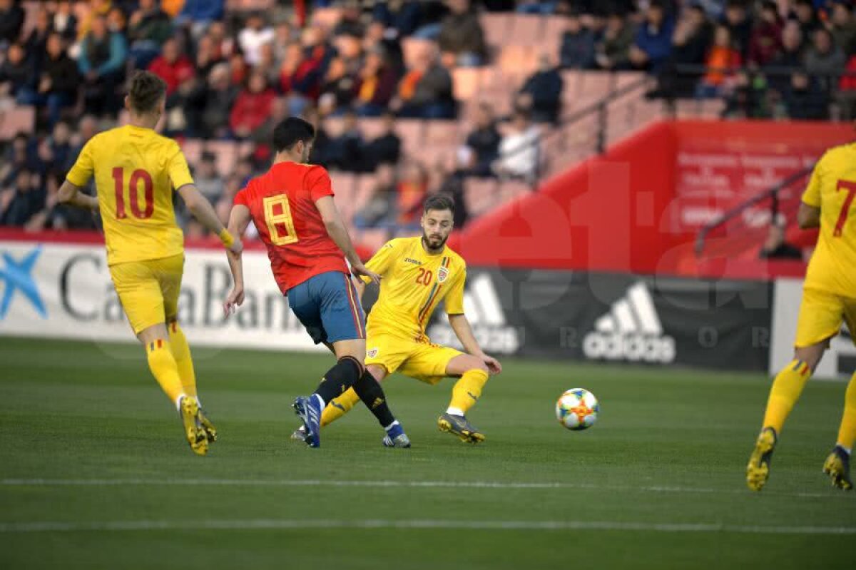
<path fill-rule="evenodd" d="M 110 265 L 110 276 L 134 335 L 178 314 L 184 254 Z"/>

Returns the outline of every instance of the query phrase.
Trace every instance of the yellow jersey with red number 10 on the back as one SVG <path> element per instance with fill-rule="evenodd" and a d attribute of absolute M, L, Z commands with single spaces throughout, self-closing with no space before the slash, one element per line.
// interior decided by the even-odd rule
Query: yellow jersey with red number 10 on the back
<path fill-rule="evenodd" d="M 175 140 L 128 125 L 97 134 L 66 178 L 84 187 L 95 176 L 107 263 L 167 258 L 184 251 L 173 188 L 193 184 Z"/>

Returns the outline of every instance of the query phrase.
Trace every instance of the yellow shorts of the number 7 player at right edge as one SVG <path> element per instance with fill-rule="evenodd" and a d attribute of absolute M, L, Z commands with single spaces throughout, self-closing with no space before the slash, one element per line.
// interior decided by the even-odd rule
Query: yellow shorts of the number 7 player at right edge
<path fill-rule="evenodd" d="M 847 329 L 856 342 L 856 299 L 804 288 L 794 346 L 810 347 L 832 338 L 841 330 L 842 322 L 847 323 Z"/>

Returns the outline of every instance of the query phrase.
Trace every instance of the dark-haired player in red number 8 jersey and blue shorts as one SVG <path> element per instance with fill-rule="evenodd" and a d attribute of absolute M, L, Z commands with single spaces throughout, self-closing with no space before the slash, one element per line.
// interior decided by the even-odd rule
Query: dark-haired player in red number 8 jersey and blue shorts
<path fill-rule="evenodd" d="M 294 411 L 306 426 L 306 443 L 313 448 L 320 445 L 324 407 L 353 387 L 386 430 L 383 445 L 407 448 L 407 435 L 389 411 L 380 384 L 364 365 L 366 316 L 351 273 L 374 282 L 380 277 L 366 269 L 354 252 L 333 201 L 330 175 L 324 168 L 306 163 L 314 138 L 315 128 L 297 117 L 276 126 L 274 163 L 265 175 L 253 178 L 235 195 L 229 231 L 243 235 L 253 221 L 291 310 L 316 344 L 324 342 L 336 354 L 336 365 L 324 374 L 318 389 L 308 398 L 294 401 Z M 227 313 L 244 300 L 240 254 L 229 255 L 229 267 L 235 287 L 223 304 Z"/>

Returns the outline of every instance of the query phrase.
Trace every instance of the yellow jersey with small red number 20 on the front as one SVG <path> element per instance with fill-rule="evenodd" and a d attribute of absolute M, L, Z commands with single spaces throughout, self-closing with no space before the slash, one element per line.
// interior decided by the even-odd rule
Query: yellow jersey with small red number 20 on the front
<path fill-rule="evenodd" d="M 431 313 L 444 299 L 447 314 L 464 312 L 467 264 L 448 246 L 430 254 L 425 252 L 421 236 L 390 240 L 366 267 L 383 276 L 380 296 L 369 313 L 370 336 L 391 333 L 423 340 Z"/>

